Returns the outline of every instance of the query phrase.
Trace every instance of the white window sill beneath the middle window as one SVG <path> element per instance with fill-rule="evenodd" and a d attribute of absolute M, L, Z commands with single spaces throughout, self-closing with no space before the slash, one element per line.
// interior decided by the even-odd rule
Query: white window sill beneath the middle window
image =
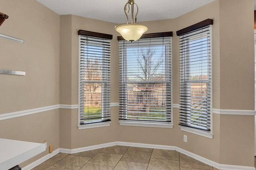
<path fill-rule="evenodd" d="M 120 125 L 123 126 L 141 126 L 141 127 L 162 127 L 162 128 L 172 128 L 173 124 L 169 123 L 144 123 L 144 122 L 127 122 L 119 121 Z"/>

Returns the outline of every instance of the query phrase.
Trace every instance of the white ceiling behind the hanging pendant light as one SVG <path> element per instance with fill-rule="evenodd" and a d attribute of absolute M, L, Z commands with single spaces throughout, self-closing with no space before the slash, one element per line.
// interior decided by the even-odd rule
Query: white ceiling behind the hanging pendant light
<path fill-rule="evenodd" d="M 128 0 L 37 0 L 59 15 L 72 14 L 113 23 L 126 23 Z M 137 22 L 177 18 L 214 0 L 134 0 Z M 136 11 L 134 11 L 135 13 Z M 135 14 L 134 14 L 135 15 Z M 129 21 L 130 22 L 130 21 Z"/>

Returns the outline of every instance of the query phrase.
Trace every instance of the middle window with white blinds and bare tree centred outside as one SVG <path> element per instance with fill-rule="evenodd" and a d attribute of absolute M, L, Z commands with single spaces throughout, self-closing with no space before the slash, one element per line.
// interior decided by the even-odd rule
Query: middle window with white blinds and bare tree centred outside
<path fill-rule="evenodd" d="M 171 127 L 171 36 L 119 41 L 121 125 Z"/>

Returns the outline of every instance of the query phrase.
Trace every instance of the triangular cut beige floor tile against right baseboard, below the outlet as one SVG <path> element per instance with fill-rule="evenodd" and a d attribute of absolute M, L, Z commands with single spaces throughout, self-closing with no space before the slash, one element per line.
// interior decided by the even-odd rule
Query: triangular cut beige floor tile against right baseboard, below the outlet
<path fill-rule="evenodd" d="M 186 155 L 180 155 L 180 167 L 213 170 L 212 166 L 204 164 Z"/>

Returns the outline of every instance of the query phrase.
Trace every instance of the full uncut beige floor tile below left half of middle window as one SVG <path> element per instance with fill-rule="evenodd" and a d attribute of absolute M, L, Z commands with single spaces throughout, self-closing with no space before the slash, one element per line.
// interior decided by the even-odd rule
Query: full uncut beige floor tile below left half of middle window
<path fill-rule="evenodd" d="M 148 164 L 151 152 L 127 150 L 121 160 Z"/>

